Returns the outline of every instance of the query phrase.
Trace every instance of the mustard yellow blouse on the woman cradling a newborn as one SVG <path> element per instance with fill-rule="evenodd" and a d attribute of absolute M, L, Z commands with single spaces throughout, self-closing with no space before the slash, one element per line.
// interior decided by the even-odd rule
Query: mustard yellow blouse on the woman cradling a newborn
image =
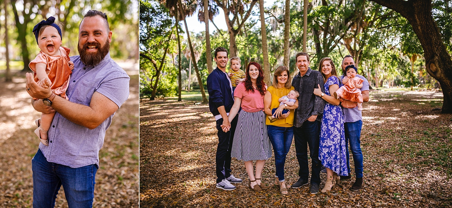
<path fill-rule="evenodd" d="M 270 105 L 270 110 L 273 108 L 279 107 L 279 98 L 282 96 L 287 95 L 291 90 L 295 89 L 294 87 L 291 87 L 290 89 L 287 88 L 274 88 L 273 86 L 268 87 L 267 91 L 272 94 L 272 104 Z M 267 118 L 265 120 L 266 125 L 274 125 L 279 127 L 292 127 L 293 126 L 293 116 L 295 116 L 294 110 L 290 110 L 290 114 L 285 119 L 278 119 L 277 121 L 270 123 L 270 120 Z"/>

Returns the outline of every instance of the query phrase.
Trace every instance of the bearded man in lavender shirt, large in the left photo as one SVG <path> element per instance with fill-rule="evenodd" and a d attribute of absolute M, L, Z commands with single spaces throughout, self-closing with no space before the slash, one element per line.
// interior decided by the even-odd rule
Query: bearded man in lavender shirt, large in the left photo
<path fill-rule="evenodd" d="M 129 96 L 129 76 L 109 53 L 112 32 L 105 13 L 89 10 L 79 27 L 80 56 L 66 95 L 55 96 L 27 73 L 26 89 L 35 110 L 55 112 L 48 131 L 49 146 L 39 144 L 32 159 L 33 207 L 54 207 L 63 185 L 69 207 L 93 206 L 99 150 L 114 113 Z"/>

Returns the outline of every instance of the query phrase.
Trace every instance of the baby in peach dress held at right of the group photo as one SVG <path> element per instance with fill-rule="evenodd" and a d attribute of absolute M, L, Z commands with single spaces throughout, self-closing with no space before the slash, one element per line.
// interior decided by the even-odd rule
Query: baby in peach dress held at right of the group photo
<path fill-rule="evenodd" d="M 363 95 L 360 88 L 363 87 L 364 80 L 357 77 L 356 73 L 358 69 L 354 65 L 348 65 L 345 67 L 347 76 L 342 79 L 342 87 L 334 92 L 334 97 L 342 102 L 342 106 L 345 108 L 355 108 L 358 106 L 358 110 L 363 110 Z"/>

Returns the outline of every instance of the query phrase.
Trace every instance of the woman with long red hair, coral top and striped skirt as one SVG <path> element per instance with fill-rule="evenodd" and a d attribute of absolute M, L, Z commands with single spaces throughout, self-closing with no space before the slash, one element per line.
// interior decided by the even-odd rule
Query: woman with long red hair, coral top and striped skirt
<path fill-rule="evenodd" d="M 265 161 L 272 157 L 272 145 L 268 139 L 264 113 L 267 85 L 264 83 L 264 72 L 258 63 L 248 64 L 245 73 L 245 82 L 235 88 L 234 105 L 229 113 L 231 121 L 240 107 L 242 108 L 235 128 L 231 157 L 245 161 L 246 172 L 250 177 L 249 188 L 253 191 L 262 191 L 269 187 L 261 183 L 260 176 Z M 223 129 L 229 130 L 227 127 Z M 256 161 L 255 175 L 253 161 Z"/>

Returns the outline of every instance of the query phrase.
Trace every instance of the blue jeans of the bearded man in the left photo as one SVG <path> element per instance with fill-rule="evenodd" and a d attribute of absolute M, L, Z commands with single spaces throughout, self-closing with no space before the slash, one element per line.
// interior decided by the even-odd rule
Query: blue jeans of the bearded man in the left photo
<path fill-rule="evenodd" d="M 31 160 L 33 170 L 33 208 L 53 208 L 56 195 L 63 185 L 70 208 L 91 208 L 97 165 L 78 168 L 47 162 L 38 149 Z"/>

